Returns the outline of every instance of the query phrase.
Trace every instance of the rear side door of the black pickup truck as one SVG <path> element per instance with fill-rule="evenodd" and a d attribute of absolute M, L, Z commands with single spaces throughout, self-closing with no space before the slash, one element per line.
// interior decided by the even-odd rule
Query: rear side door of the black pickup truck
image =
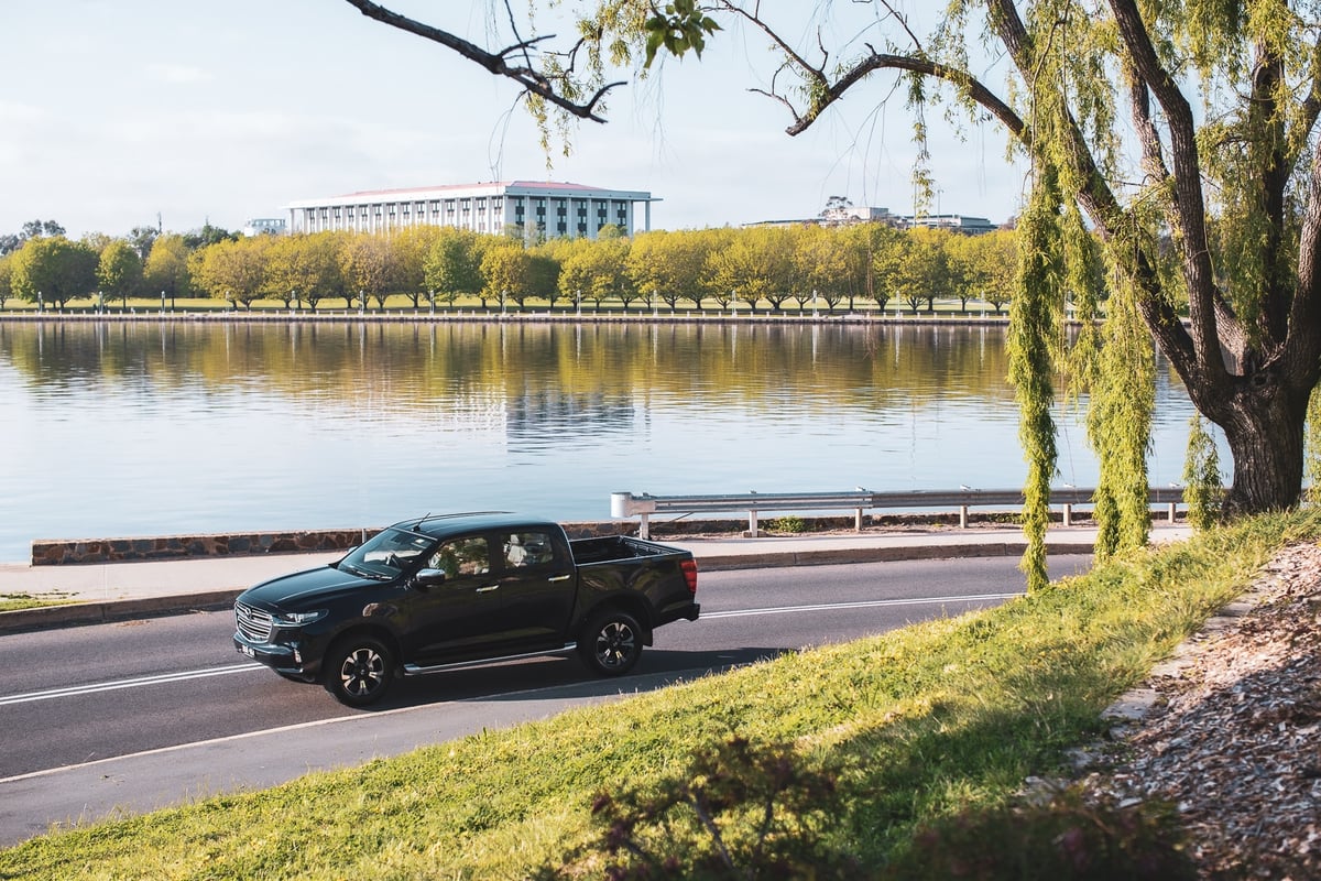
<path fill-rule="evenodd" d="M 576 569 L 564 542 L 530 527 L 499 534 L 499 594 L 511 643 L 528 651 L 559 649 L 568 638 L 577 590 Z"/>

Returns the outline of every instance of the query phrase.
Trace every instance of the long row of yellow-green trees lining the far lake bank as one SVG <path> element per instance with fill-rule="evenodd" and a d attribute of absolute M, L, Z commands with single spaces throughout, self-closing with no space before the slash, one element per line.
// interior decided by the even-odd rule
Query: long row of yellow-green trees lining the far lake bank
<path fill-rule="evenodd" d="M 58 229 L 58 227 L 57 227 Z M 218 234 L 217 234 L 218 232 Z M 242 308 L 383 308 L 406 296 L 415 309 L 530 305 L 645 305 L 679 309 L 839 306 L 933 309 L 937 300 L 1009 300 L 1015 232 L 964 236 L 947 230 L 761 226 L 638 232 L 606 227 L 596 240 L 478 235 L 421 226 L 392 235 L 317 232 L 243 238 L 157 234 L 81 240 L 42 234 L 0 256 L 0 308 L 9 299 L 65 308 L 70 301 L 127 308 L 131 297 L 213 297 Z"/>

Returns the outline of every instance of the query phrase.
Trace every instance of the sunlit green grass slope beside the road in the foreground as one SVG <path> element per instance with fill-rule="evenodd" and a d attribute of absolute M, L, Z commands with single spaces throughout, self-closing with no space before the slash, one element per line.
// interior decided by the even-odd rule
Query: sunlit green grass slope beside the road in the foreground
<path fill-rule="evenodd" d="M 1321 515 L 1258 518 L 997 609 L 0 851 L 24 878 L 519 878 L 593 866 L 598 791 L 683 774 L 738 734 L 839 782 L 832 847 L 880 865 L 913 828 L 1007 802 Z M 810 579 L 810 571 L 804 571 Z M 312 734 L 299 734 L 312 736 Z M 223 769 L 215 769 L 222 774 Z M 600 864 L 589 877 L 600 877 Z"/>

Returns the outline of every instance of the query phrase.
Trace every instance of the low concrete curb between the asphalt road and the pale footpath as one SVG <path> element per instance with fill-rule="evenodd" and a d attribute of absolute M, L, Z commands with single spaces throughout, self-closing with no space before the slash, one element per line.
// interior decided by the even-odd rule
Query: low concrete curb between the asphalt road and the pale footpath
<path fill-rule="evenodd" d="M 699 556 L 701 572 L 728 572 L 733 569 L 760 569 L 797 565 L 843 565 L 849 563 L 894 563 L 900 560 L 941 560 L 955 557 L 1022 556 L 1024 542 L 930 544 L 872 548 L 840 548 L 832 551 L 785 551 Z M 1055 543 L 1046 547 L 1052 555 L 1091 553 L 1090 542 Z M 243 588 L 227 588 L 197 593 L 148 597 L 139 600 L 107 600 L 78 602 L 40 609 L 0 612 L 0 634 L 24 630 L 42 630 L 74 625 L 108 623 L 140 616 L 185 614 L 188 612 L 223 609 L 234 604 Z"/>

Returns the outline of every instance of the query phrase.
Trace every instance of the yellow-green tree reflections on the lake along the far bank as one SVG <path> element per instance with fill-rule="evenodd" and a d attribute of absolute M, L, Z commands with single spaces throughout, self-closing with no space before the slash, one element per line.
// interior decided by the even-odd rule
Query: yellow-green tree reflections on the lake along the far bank
<path fill-rule="evenodd" d="M 284 395 L 400 415 L 502 405 L 515 431 L 633 403 L 904 405 L 1013 394 L 1001 328 L 734 324 L 0 324 L 0 358 L 42 386 Z M 420 408 L 420 409 L 419 409 Z"/>

